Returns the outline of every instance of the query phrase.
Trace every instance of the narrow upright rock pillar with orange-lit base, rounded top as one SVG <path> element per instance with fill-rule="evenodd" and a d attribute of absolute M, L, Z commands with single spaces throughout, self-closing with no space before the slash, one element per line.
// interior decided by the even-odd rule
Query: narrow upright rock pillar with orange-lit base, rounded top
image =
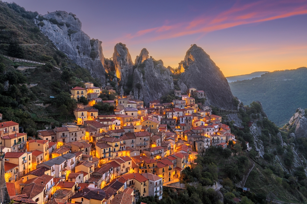
<path fill-rule="evenodd" d="M 119 84 L 125 89 L 127 86 L 131 86 L 134 64 L 129 54 L 128 48 L 126 48 L 126 45 L 122 43 L 117 43 L 115 45 L 113 63 L 115 65 L 116 76 L 120 79 Z M 129 78 L 131 78 L 131 84 L 128 84 Z"/>

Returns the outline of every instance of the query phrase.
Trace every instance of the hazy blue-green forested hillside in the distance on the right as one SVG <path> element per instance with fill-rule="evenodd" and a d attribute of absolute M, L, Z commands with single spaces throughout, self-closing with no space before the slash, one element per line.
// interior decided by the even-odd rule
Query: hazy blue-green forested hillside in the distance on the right
<path fill-rule="evenodd" d="M 268 118 L 278 126 L 289 121 L 298 107 L 307 107 L 307 68 L 266 73 L 258 78 L 229 83 L 244 104 L 260 101 Z"/>

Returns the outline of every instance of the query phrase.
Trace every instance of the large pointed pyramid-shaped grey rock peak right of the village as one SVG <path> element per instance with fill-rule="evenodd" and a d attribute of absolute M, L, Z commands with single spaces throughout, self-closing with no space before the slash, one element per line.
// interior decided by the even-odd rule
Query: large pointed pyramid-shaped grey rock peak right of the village
<path fill-rule="evenodd" d="M 196 88 L 206 92 L 208 102 L 212 106 L 223 109 L 236 109 L 233 105 L 233 95 L 222 71 L 210 59 L 201 47 L 195 44 L 187 51 L 185 59 L 179 63 L 181 73 L 178 86 L 185 91 Z M 182 82 L 182 83 L 181 83 Z"/>

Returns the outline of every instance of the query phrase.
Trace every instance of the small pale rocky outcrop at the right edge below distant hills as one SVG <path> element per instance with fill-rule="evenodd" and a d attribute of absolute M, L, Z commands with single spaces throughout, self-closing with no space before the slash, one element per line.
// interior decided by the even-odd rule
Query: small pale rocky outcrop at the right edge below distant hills
<path fill-rule="evenodd" d="M 296 113 L 291 117 L 289 125 L 286 128 L 295 127 L 294 137 L 307 137 L 307 118 L 305 117 L 305 110 L 298 108 Z"/>

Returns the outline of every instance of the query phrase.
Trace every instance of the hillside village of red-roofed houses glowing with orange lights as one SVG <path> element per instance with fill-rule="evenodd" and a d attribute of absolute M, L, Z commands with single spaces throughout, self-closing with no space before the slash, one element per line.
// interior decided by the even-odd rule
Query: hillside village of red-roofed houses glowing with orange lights
<path fill-rule="evenodd" d="M 106 90 L 116 99 L 99 98 Z M 27 137 L 14 121 L 0 123 L 6 185 L 14 202 L 131 204 L 139 196 L 162 199 L 163 185 L 179 182 L 198 154 L 235 143 L 222 117 L 195 103 L 196 97 L 205 98 L 204 91 L 174 91 L 180 99 L 145 105 L 132 95 L 106 90 L 89 82 L 72 88 L 71 97 L 85 97 L 88 105 L 78 103 L 75 123 L 39 130 L 38 138 Z M 112 115 L 93 108 L 104 103 L 115 107 Z"/>

